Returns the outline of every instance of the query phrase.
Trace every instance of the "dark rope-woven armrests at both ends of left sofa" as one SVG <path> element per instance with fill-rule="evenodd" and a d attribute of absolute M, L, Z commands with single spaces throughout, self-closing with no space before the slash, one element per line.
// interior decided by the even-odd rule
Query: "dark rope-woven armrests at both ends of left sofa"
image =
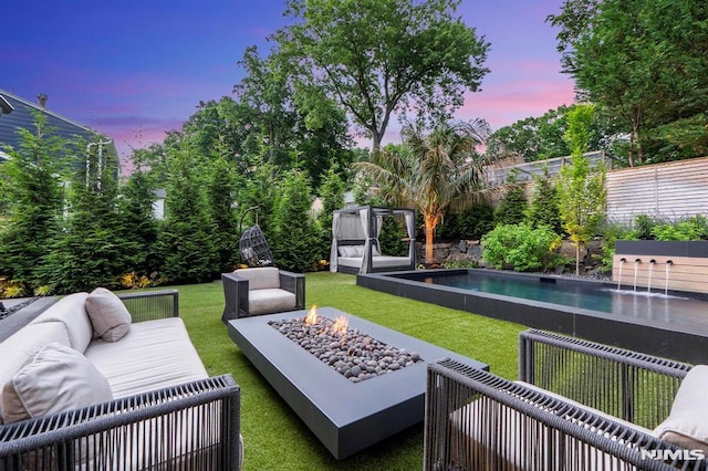
<path fill-rule="evenodd" d="M 121 297 L 134 323 L 178 315 L 176 291 Z M 1 425 L 0 471 L 133 470 L 138 456 L 140 469 L 238 470 L 239 422 L 240 388 L 216 376 Z"/>

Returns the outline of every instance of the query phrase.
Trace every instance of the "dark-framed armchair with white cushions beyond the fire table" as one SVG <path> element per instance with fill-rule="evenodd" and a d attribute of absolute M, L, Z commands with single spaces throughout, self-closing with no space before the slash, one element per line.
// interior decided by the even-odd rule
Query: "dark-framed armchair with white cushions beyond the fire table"
<path fill-rule="evenodd" d="M 274 266 L 241 269 L 222 273 L 226 306 L 221 321 L 302 310 L 305 276 Z"/>

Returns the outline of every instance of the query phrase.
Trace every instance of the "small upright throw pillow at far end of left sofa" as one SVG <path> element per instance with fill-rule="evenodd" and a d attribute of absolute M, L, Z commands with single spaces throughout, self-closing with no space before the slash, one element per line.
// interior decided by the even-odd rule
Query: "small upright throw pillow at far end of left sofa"
<path fill-rule="evenodd" d="M 123 338 L 133 323 L 123 301 L 105 287 L 96 287 L 88 294 L 86 314 L 96 335 L 105 342 Z"/>

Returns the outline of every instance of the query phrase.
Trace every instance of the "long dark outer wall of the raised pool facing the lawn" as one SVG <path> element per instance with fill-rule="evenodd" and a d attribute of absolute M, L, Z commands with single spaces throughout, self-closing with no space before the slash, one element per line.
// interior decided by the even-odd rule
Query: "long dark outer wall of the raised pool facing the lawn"
<path fill-rule="evenodd" d="M 468 270 L 448 270 L 446 272 L 464 274 Z M 473 272 L 483 273 L 483 270 L 473 270 Z M 695 328 L 657 320 L 617 318 L 613 314 L 598 311 L 424 282 L 426 276 L 439 274 L 441 274 L 439 270 L 400 272 L 395 275 L 363 274 L 357 275 L 356 284 L 410 300 L 514 322 L 529 327 L 559 332 L 622 348 L 694 364 L 708 363 L 708 329 L 701 333 Z M 423 280 L 423 282 L 407 280 L 405 276 Z M 541 280 L 539 279 L 539 281 Z M 708 313 L 706 315 L 708 317 Z"/>

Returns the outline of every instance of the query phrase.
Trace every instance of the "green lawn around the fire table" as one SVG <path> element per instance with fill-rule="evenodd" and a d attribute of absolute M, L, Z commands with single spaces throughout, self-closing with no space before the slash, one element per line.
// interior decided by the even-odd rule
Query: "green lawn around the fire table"
<path fill-rule="evenodd" d="M 241 387 L 244 470 L 417 470 L 423 425 L 336 461 L 231 342 L 221 323 L 221 283 L 177 286 L 179 312 L 210 375 L 229 373 Z M 353 275 L 306 275 L 306 303 L 333 306 L 490 365 L 517 378 L 517 337 L 524 327 L 378 293 Z M 346 407 L 346 405 L 342 405 Z"/>

